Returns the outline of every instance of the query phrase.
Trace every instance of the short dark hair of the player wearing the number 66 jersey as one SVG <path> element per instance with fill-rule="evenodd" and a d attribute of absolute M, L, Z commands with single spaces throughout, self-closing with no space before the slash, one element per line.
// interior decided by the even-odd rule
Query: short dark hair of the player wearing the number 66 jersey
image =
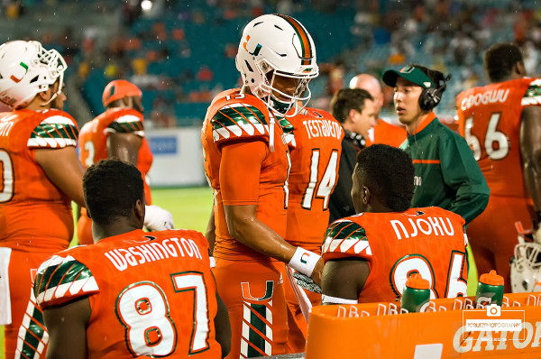
<path fill-rule="evenodd" d="M 484 53 L 484 68 L 491 82 L 507 80 L 517 62 L 523 62 L 522 53 L 512 43 L 497 43 Z"/>

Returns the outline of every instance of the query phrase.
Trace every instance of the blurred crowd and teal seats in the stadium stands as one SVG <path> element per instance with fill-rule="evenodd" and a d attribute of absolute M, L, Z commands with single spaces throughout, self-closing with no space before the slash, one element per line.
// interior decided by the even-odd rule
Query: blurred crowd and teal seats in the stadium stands
<path fill-rule="evenodd" d="M 182 124 L 179 117 L 183 115 L 199 119 L 205 115 L 179 113 L 187 108 L 189 112 L 189 107 L 178 104 L 205 104 L 222 89 L 239 85 L 233 69 L 240 34 L 243 25 L 260 14 L 290 14 L 315 34 L 321 75 L 311 84 L 316 102 L 312 105 L 328 109 L 334 93 L 359 72 L 378 76 L 382 69 L 413 62 L 453 73 L 451 91 L 439 106 L 453 112 L 455 93 L 486 83 L 482 53 L 492 43 L 517 42 L 528 73 L 539 74 L 541 12 L 535 3 L 152 0 L 153 8 L 145 13 L 142 0 L 0 0 L 0 8 L 3 17 L 17 21 L 30 16 L 33 8 L 53 12 L 69 4 L 87 13 L 114 16 L 116 29 L 104 32 L 100 23 L 78 23 L 38 32 L 40 38 L 35 40 L 62 53 L 71 68 L 69 76 L 78 78 L 93 112 L 102 111 L 95 105 L 99 101 L 91 98 L 96 96 L 93 88 L 126 78 L 142 87 L 145 115 L 151 122 L 173 126 Z M 328 17 L 322 18 L 323 14 Z M 325 27 L 322 19 L 333 22 Z M 32 36 L 29 29 L 27 39 Z M 92 81 L 96 86 L 88 84 Z M 392 89 L 387 87 L 385 108 L 391 102 Z M 205 106 L 196 108 L 200 111 Z"/>

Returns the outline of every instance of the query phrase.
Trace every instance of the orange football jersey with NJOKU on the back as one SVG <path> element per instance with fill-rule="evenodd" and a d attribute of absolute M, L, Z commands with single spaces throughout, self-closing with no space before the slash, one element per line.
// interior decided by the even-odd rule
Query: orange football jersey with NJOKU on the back
<path fill-rule="evenodd" d="M 430 283 L 432 299 L 465 296 L 463 226 L 463 217 L 439 207 L 361 213 L 328 227 L 323 259 L 359 257 L 368 262 L 370 273 L 360 303 L 399 300 L 413 272 Z"/>

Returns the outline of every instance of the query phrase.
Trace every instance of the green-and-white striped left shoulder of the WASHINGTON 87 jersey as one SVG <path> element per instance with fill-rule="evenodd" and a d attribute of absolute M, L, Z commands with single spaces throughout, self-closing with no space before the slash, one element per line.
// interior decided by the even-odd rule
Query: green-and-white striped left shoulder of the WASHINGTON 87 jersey
<path fill-rule="evenodd" d="M 55 254 L 41 264 L 33 290 L 36 302 L 45 308 L 96 293 L 99 288 L 85 264 L 69 254 Z"/>

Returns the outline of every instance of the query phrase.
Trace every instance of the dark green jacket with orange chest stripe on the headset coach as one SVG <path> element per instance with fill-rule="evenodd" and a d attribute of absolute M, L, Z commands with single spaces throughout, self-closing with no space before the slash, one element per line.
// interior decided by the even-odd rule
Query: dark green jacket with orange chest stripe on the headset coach
<path fill-rule="evenodd" d="M 441 124 L 434 113 L 423 125 L 400 146 L 415 167 L 411 205 L 442 207 L 463 216 L 468 224 L 489 203 L 487 182 L 462 136 Z"/>

